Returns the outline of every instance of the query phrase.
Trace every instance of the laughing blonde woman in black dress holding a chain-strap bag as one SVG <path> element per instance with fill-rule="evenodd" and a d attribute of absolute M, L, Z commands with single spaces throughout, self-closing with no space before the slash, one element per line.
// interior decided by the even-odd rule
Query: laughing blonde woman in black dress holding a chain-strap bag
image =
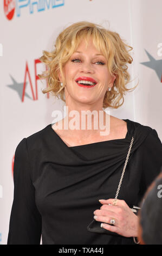
<path fill-rule="evenodd" d="M 137 241 L 138 216 L 131 208 L 160 172 L 161 142 L 151 127 L 103 111 L 119 108 L 131 90 L 130 50 L 118 33 L 77 22 L 57 36 L 53 51 L 43 51 L 40 60 L 48 70 L 40 78 L 49 84 L 43 93 L 60 96 L 67 115 L 17 145 L 8 244 L 39 244 L 41 235 L 43 245 Z M 83 111 L 98 129 L 87 128 L 88 118 L 81 129 Z M 74 113 L 79 129 L 73 129 Z M 109 132 L 101 133 L 103 126 Z M 89 231 L 93 220 L 107 233 Z"/>

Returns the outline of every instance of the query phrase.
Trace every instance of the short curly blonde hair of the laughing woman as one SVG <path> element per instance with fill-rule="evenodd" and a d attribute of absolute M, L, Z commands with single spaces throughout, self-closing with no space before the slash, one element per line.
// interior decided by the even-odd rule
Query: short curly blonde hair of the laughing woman
<path fill-rule="evenodd" d="M 48 87 L 42 90 L 42 93 L 51 92 L 53 95 L 60 95 L 61 100 L 64 100 L 64 87 L 60 86 L 58 71 L 63 77 L 63 67 L 76 51 L 82 39 L 88 41 L 89 36 L 93 39 L 93 44 L 98 51 L 108 60 L 107 68 L 111 75 L 115 74 L 112 90 L 106 92 L 103 99 L 103 108 L 111 107 L 118 108 L 124 103 L 124 95 L 126 92 L 134 90 L 126 88 L 126 84 L 130 82 L 130 75 L 127 71 L 127 63 L 131 64 L 133 58 L 129 51 L 133 48 L 126 44 L 125 40 L 120 38 L 116 32 L 109 31 L 95 23 L 82 21 L 73 23 L 73 25 L 64 29 L 55 42 L 55 49 L 51 52 L 43 51 L 43 56 L 40 57 L 41 62 L 48 67 L 38 77 L 48 79 Z M 138 84 L 137 84 L 138 85 Z M 120 100 L 122 102 L 120 103 Z"/>

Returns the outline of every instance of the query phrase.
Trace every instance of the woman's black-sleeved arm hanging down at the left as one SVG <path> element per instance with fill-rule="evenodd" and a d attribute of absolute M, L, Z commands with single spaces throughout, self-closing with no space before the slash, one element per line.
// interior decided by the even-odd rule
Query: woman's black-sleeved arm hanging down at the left
<path fill-rule="evenodd" d="M 8 245 L 40 244 L 42 221 L 35 204 L 35 188 L 30 177 L 31 167 L 27 139 L 17 145 L 14 161 L 14 201 L 12 204 Z"/>

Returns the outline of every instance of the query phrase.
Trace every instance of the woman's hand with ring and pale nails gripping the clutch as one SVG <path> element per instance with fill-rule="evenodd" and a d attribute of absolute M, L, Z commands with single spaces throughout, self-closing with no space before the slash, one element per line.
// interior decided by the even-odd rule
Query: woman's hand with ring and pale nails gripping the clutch
<path fill-rule="evenodd" d="M 114 226 L 102 223 L 102 228 L 115 232 L 119 235 L 131 237 L 138 236 L 138 216 L 129 208 L 124 200 L 117 199 L 115 205 L 114 199 L 100 200 L 103 204 L 100 210 L 94 211 L 94 218 L 96 221 L 111 223 L 114 219 Z"/>

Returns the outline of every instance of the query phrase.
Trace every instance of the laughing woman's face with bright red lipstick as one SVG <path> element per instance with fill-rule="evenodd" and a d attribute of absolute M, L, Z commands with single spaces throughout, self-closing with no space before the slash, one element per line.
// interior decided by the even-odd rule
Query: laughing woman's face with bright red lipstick
<path fill-rule="evenodd" d="M 80 42 L 64 65 L 64 77 L 66 99 L 100 105 L 108 87 L 112 87 L 115 80 L 115 76 L 109 74 L 107 59 L 95 48 L 92 38 L 87 47 L 85 40 Z"/>

